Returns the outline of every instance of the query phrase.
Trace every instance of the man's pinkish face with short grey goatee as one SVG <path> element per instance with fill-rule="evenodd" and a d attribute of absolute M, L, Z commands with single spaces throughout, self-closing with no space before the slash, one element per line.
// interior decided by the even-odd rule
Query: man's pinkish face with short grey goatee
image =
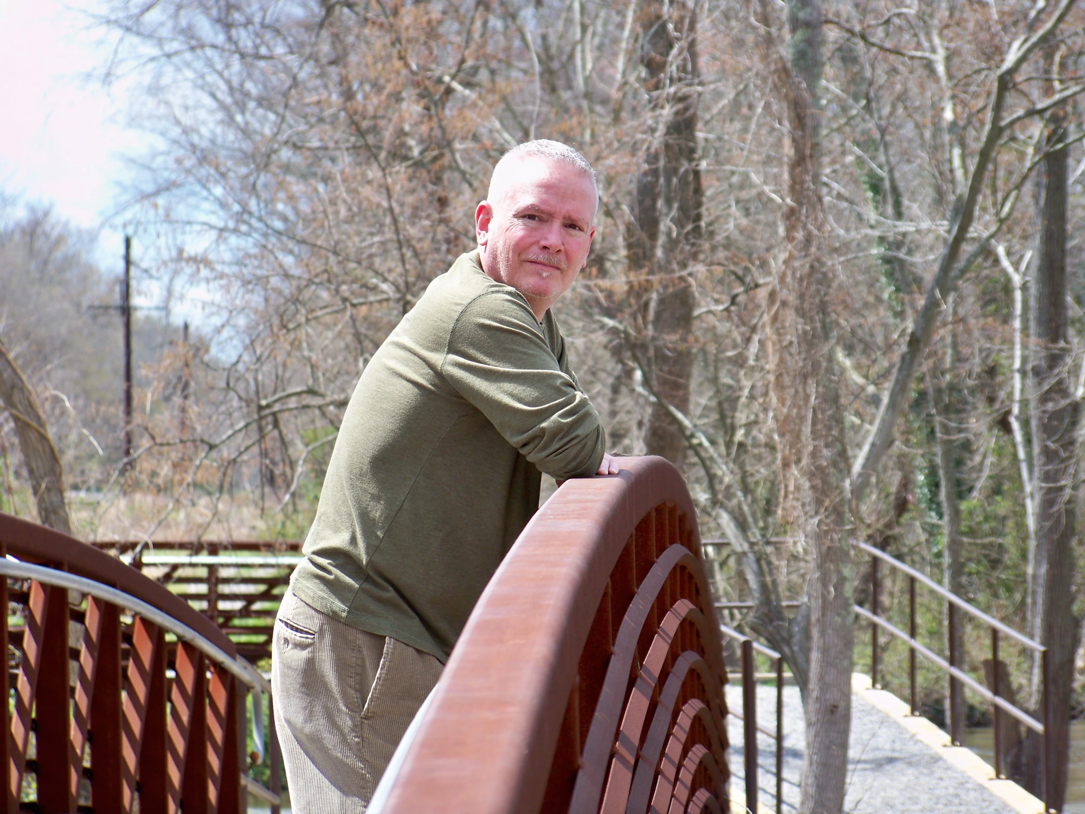
<path fill-rule="evenodd" d="M 591 179 L 564 162 L 515 162 L 499 200 L 475 209 L 482 267 L 527 300 L 536 318 L 573 284 L 596 233 Z"/>

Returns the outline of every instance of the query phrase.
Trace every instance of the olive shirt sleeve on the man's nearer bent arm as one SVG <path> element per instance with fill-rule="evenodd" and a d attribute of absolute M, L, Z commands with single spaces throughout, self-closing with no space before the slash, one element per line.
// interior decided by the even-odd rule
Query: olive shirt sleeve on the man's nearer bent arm
<path fill-rule="evenodd" d="M 599 414 L 519 297 L 493 291 L 468 304 L 442 373 L 540 471 L 556 479 L 596 473 L 607 444 Z"/>

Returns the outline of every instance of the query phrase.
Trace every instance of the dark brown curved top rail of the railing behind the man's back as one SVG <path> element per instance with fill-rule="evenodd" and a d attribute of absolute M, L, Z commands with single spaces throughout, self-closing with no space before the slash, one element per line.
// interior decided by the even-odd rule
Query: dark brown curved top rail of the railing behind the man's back
<path fill-rule="evenodd" d="M 0 511 L 0 544 L 4 554 L 38 564 L 60 565 L 79 576 L 108 585 L 176 619 L 214 644 L 230 658 L 238 649 L 218 625 L 169 588 L 116 557 L 66 534 Z"/>

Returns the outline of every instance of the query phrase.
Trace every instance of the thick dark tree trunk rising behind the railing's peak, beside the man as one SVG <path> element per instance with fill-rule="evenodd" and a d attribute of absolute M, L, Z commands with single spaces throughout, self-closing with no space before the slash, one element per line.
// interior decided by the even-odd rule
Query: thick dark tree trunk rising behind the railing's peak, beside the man
<path fill-rule="evenodd" d="M 641 12 L 644 89 L 660 117 L 637 177 L 634 222 L 627 233 L 630 287 L 639 311 L 653 390 L 689 414 L 693 363 L 693 278 L 703 240 L 704 193 L 697 148 L 697 10 L 688 0 L 653 0 Z M 666 408 L 655 403 L 646 428 L 649 455 L 679 469 L 686 440 Z"/>

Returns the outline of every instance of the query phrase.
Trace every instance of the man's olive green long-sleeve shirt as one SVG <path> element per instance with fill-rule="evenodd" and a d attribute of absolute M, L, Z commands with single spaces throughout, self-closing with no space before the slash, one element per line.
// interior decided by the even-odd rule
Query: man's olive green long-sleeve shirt
<path fill-rule="evenodd" d="M 293 589 L 445 661 L 538 508 L 540 470 L 591 475 L 604 446 L 552 314 L 540 325 L 464 254 L 366 366 Z"/>

